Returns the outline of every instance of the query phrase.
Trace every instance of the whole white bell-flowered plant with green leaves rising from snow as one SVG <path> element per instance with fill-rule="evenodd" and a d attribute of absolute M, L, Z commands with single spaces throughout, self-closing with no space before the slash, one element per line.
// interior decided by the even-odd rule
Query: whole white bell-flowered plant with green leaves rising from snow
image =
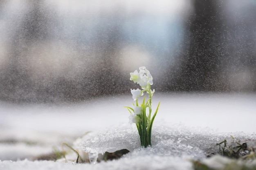
<path fill-rule="evenodd" d="M 139 137 L 141 141 L 141 146 L 147 147 L 151 146 L 151 131 L 153 126 L 153 121 L 155 116 L 157 115 L 157 110 L 159 108 L 159 104 L 157 109 L 155 110 L 154 115 L 151 118 L 152 113 L 152 96 L 155 92 L 151 90 L 150 86 L 153 85 L 153 77 L 150 72 L 146 69 L 146 67 L 139 67 L 139 72 L 135 70 L 133 73 L 130 73 L 130 80 L 134 83 L 137 83 L 141 86 L 141 89 L 137 88 L 131 89 L 132 98 L 136 103 L 133 103 L 133 108 L 125 107 L 130 112 L 130 124 L 135 123 L 139 132 Z M 148 99 L 146 100 L 146 96 L 142 103 L 138 104 L 138 97 L 144 95 L 144 92 L 148 94 Z"/>

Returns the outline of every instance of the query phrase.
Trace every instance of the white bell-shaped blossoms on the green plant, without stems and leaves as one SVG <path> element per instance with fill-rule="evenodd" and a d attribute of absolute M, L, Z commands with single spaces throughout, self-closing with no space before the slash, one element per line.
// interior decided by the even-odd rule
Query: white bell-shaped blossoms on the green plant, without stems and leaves
<path fill-rule="evenodd" d="M 151 91 L 150 85 L 153 85 L 153 77 L 150 74 L 150 72 L 146 69 L 145 66 L 139 67 L 139 72 L 135 70 L 133 73 L 130 73 L 130 80 L 132 80 L 134 83 L 137 83 L 141 86 L 140 90 L 139 88 L 130 89 L 132 93 L 133 100 L 137 100 L 138 97 L 143 96 L 144 92 L 150 93 L 151 96 L 155 92 L 155 89 Z M 142 114 L 142 108 L 140 106 L 135 106 L 134 108 L 134 114 L 130 114 L 130 124 L 132 123 L 138 123 L 140 118 L 139 115 Z"/>

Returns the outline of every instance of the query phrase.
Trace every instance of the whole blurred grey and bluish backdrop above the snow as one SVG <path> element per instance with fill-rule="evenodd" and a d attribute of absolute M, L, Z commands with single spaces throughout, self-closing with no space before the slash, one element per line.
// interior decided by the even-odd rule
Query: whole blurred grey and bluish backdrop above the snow
<path fill-rule="evenodd" d="M 256 91 L 255 0 L 0 0 L 0 100 Z"/>

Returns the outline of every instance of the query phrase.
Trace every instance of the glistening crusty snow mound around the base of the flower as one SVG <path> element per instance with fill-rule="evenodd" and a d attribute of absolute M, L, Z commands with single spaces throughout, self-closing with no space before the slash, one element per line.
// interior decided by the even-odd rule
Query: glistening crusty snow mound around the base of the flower
<path fill-rule="evenodd" d="M 88 135 L 75 141 L 75 148 L 80 148 L 89 153 L 90 160 L 96 162 L 98 154 L 104 152 L 115 152 L 127 149 L 125 159 L 139 162 L 150 160 L 168 159 L 179 157 L 185 159 L 203 159 L 208 155 L 218 152 L 216 143 L 224 139 L 232 139 L 238 136 L 240 140 L 246 142 L 253 141 L 255 145 L 255 134 L 237 133 L 216 133 L 208 128 L 188 128 L 182 125 L 155 126 L 152 132 L 152 147 L 141 148 L 139 135 L 135 126 L 128 124 L 111 127 L 111 129 L 91 132 Z M 91 161 L 91 162 L 92 162 Z M 126 160 L 127 161 L 127 160 Z M 132 162 L 131 162 L 132 163 Z"/>

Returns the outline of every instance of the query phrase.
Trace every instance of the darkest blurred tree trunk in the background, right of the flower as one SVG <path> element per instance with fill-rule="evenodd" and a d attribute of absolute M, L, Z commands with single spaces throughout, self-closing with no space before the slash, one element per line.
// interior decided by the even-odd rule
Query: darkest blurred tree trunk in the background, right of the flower
<path fill-rule="evenodd" d="M 189 19 L 189 46 L 180 60 L 180 72 L 176 77 L 182 91 L 219 91 L 222 84 L 219 76 L 223 58 L 223 16 L 220 2 L 195 0 L 194 13 Z M 186 40 L 185 40 L 186 41 Z"/>

